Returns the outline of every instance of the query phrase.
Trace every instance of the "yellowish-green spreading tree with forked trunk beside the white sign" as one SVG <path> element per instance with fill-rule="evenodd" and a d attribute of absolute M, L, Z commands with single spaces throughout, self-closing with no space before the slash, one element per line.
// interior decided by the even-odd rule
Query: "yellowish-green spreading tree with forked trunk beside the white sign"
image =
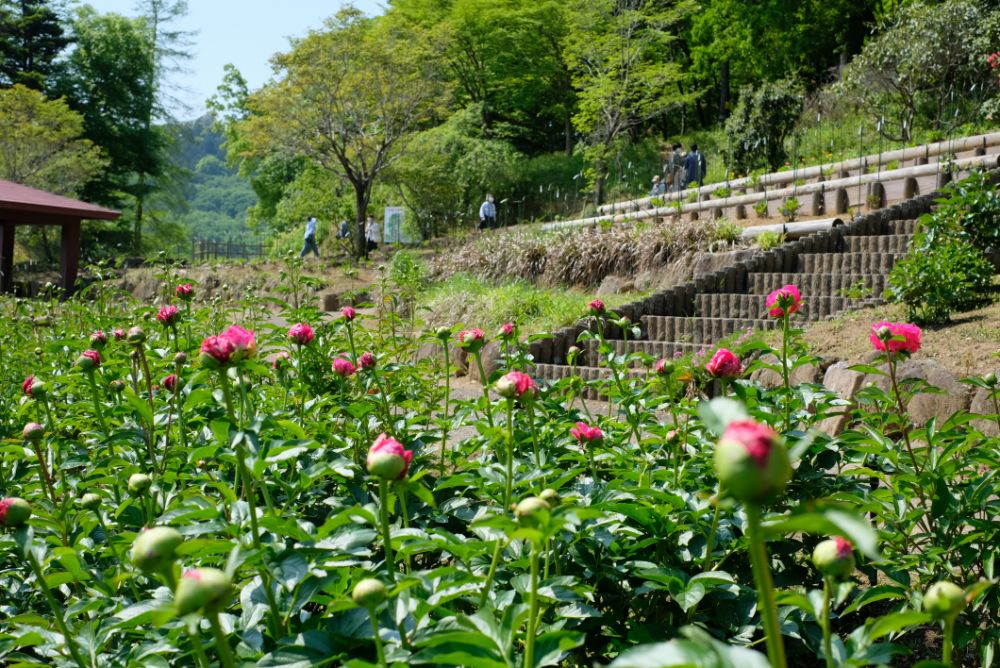
<path fill-rule="evenodd" d="M 278 80 L 252 94 L 239 123 L 247 157 L 303 156 L 343 178 L 355 199 L 355 253 L 372 188 L 434 115 L 441 87 L 419 44 L 355 9 L 275 57 Z"/>

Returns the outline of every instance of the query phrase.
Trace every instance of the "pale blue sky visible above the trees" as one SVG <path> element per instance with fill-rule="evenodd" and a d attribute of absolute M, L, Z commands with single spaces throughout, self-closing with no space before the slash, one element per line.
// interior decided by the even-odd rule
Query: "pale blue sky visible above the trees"
<path fill-rule="evenodd" d="M 135 16 L 135 0 L 89 0 L 100 12 Z M 338 0 L 188 0 L 188 15 L 177 28 L 197 31 L 190 72 L 172 76 L 171 94 L 188 106 L 175 108 L 181 119 L 200 116 L 205 99 L 222 81 L 222 69 L 233 63 L 251 89 L 271 76 L 271 55 L 288 49 L 288 38 L 319 28 L 341 6 Z M 382 13 L 381 0 L 355 0 L 367 14 Z"/>

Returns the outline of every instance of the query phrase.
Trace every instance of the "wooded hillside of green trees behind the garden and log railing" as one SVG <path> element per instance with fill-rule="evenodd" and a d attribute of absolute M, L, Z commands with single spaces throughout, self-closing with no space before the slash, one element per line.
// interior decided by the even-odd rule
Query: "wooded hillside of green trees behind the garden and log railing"
<path fill-rule="evenodd" d="M 34 156 L 0 178 L 121 209 L 93 257 L 183 254 L 192 229 L 289 246 L 310 215 L 327 233 L 385 205 L 429 238 L 487 191 L 502 224 L 569 216 L 643 193 L 675 141 L 727 178 L 1000 114 L 987 0 L 391 0 L 294 38 L 258 90 L 228 67 L 182 123 L 186 9 L 0 0 L 3 141 Z"/>

